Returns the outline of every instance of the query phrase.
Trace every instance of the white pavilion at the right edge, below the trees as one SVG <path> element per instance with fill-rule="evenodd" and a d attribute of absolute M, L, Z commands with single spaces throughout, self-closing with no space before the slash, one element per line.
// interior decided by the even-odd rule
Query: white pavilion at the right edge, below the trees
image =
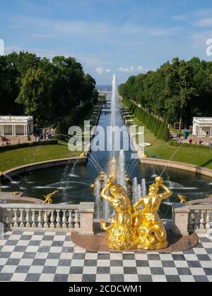
<path fill-rule="evenodd" d="M 196 137 L 212 137 L 212 117 L 194 117 L 193 135 Z"/>

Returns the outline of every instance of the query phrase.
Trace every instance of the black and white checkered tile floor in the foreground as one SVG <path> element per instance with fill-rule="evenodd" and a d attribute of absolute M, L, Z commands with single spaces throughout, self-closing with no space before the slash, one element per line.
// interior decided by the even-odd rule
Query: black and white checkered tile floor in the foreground
<path fill-rule="evenodd" d="M 69 233 L 8 232 L 0 240 L 0 281 L 212 282 L 212 242 L 172 254 L 88 252 Z"/>

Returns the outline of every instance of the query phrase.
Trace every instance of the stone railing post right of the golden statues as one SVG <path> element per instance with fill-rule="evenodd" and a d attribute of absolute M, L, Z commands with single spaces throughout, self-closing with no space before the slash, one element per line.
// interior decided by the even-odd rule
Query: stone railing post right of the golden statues
<path fill-rule="evenodd" d="M 172 231 L 175 235 L 187 236 L 189 225 L 189 206 L 186 204 L 173 203 L 172 204 Z"/>

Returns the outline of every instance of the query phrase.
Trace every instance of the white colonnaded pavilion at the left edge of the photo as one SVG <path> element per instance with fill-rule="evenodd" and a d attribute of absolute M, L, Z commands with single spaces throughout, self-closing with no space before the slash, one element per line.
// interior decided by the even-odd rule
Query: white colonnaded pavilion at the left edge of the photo
<path fill-rule="evenodd" d="M 8 140 L 22 137 L 28 140 L 33 134 L 33 116 L 0 116 L 0 136 Z"/>

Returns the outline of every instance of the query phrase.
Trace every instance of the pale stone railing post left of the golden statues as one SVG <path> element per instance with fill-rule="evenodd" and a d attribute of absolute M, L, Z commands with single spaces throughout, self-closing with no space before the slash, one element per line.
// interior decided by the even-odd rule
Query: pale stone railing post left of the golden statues
<path fill-rule="evenodd" d="M 94 235 L 93 233 L 93 214 L 94 202 L 81 202 L 78 213 L 80 215 L 80 235 Z"/>

